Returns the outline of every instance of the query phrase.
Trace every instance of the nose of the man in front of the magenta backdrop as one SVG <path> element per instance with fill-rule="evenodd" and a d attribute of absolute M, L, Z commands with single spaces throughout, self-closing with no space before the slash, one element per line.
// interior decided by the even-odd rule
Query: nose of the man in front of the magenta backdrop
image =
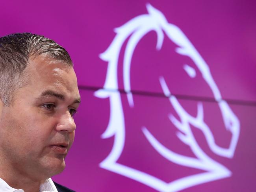
<path fill-rule="evenodd" d="M 59 117 L 59 122 L 56 126 L 57 131 L 68 131 L 72 132 L 76 129 L 76 124 L 72 115 L 67 111 Z"/>

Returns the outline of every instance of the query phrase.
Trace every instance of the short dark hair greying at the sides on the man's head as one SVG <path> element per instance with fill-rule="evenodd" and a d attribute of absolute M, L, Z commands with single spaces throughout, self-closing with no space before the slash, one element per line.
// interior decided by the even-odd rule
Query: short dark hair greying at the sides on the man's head
<path fill-rule="evenodd" d="M 0 38 L 0 98 L 11 105 L 15 91 L 26 82 L 30 57 L 47 54 L 73 66 L 68 52 L 55 41 L 32 33 L 15 33 Z"/>

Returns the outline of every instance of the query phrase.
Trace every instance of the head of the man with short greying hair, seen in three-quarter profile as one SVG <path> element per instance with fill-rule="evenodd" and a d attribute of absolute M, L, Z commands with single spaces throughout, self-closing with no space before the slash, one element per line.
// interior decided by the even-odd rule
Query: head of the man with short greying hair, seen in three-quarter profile
<path fill-rule="evenodd" d="M 31 33 L 0 38 L 0 98 L 1 172 L 34 180 L 61 172 L 80 103 L 67 51 Z"/>

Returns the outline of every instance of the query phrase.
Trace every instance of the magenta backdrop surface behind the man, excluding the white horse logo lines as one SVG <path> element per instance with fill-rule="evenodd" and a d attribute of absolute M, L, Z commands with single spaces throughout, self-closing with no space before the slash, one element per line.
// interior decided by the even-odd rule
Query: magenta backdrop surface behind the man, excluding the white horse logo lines
<path fill-rule="evenodd" d="M 195 46 L 208 63 L 222 98 L 228 102 L 240 122 L 239 140 L 232 158 L 213 153 L 202 132 L 192 127 L 202 150 L 230 170 L 232 175 L 184 191 L 254 191 L 256 3 L 242 0 L 2 1 L 0 36 L 25 31 L 45 35 L 65 47 L 74 61 L 82 97 L 75 116 L 76 138 L 66 158 L 66 169 L 53 180 L 81 192 L 156 191 L 133 179 L 100 168 L 100 162 L 112 149 L 114 137 L 101 138 L 109 122 L 109 98 L 94 96 L 96 90 L 103 88 L 108 68 L 108 63 L 102 61 L 99 54 L 113 41 L 116 35 L 114 28 L 138 15 L 148 14 L 147 3 L 160 10 L 169 23 L 178 26 Z M 163 46 L 157 52 L 156 33 L 150 32 L 135 49 L 131 64 L 135 107 L 129 107 L 126 95 L 121 91 L 126 140 L 117 162 L 169 183 L 204 171 L 180 166 L 163 158 L 141 131 L 141 126 L 147 126 L 170 150 L 195 157 L 176 136 L 177 129 L 168 119 L 173 109 L 162 93 L 159 76 L 165 76 L 171 93 L 191 115 L 196 116 L 198 101 L 203 103 L 204 120 L 211 127 L 219 146 L 228 148 L 232 135 L 225 129 L 217 102 L 202 77 L 198 75 L 191 80 L 181 67 L 184 63 L 192 66 L 191 59 L 174 54 L 177 46 L 167 39 L 165 34 Z M 122 54 L 124 48 L 121 49 Z M 118 87 L 123 90 L 122 57 L 119 59 Z"/>

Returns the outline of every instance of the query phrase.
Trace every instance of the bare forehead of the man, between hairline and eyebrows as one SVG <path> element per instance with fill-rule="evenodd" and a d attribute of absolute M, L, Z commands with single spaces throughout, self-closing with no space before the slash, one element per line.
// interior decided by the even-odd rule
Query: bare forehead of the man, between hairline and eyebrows
<path fill-rule="evenodd" d="M 29 61 L 26 72 L 37 92 L 55 90 L 63 95 L 79 96 L 74 69 L 64 61 L 42 54 Z"/>

